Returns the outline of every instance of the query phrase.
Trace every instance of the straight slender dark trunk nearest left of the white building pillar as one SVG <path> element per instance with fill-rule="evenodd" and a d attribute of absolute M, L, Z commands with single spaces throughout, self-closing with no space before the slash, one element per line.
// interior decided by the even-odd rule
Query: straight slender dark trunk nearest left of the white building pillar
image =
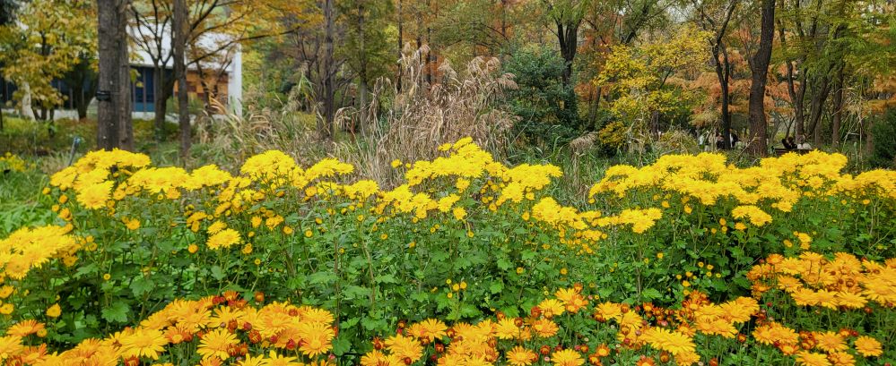
<path fill-rule="evenodd" d="M 189 158 L 192 133 L 190 131 L 189 87 L 187 86 L 187 1 L 174 0 L 174 75 L 178 79 L 178 129 L 180 130 L 180 158 L 184 165 Z M 164 117 L 163 117 L 164 118 Z"/>

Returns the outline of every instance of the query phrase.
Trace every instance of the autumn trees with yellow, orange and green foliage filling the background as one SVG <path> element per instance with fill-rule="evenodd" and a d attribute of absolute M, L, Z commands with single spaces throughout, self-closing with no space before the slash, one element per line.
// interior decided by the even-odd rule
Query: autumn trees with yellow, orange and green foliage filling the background
<path fill-rule="evenodd" d="M 93 55 L 103 48 L 94 28 L 109 27 L 96 24 L 102 7 L 2 4 L 0 72 L 19 86 L 14 103 L 43 118 L 63 104 L 86 116 L 94 89 L 111 85 L 94 82 Z M 749 136 L 756 155 L 788 136 L 813 146 L 856 141 L 870 152 L 874 123 L 896 100 L 896 12 L 884 0 L 185 0 L 187 28 L 177 39 L 165 36 L 177 28 L 174 0 L 120 4 L 129 45 L 156 71 L 159 140 L 178 80 L 174 59 L 199 75 L 196 105 L 204 108 L 193 113 L 212 115 L 238 50 L 251 108 L 288 101 L 328 141 L 353 140 L 385 121 L 396 104 L 378 86 L 435 93 L 453 65 L 482 56 L 497 57 L 496 72 L 515 78 L 502 103 L 516 116 L 508 131 L 521 144 L 563 145 L 613 123 L 610 130 L 629 133 L 620 146 L 684 130 L 718 132 L 725 148 L 729 133 Z M 174 55 L 178 45 L 183 57 Z M 405 73 L 403 55 L 417 57 L 421 71 Z M 62 95 L 54 80 L 82 88 Z M 189 121 L 182 136 L 196 128 Z"/>

